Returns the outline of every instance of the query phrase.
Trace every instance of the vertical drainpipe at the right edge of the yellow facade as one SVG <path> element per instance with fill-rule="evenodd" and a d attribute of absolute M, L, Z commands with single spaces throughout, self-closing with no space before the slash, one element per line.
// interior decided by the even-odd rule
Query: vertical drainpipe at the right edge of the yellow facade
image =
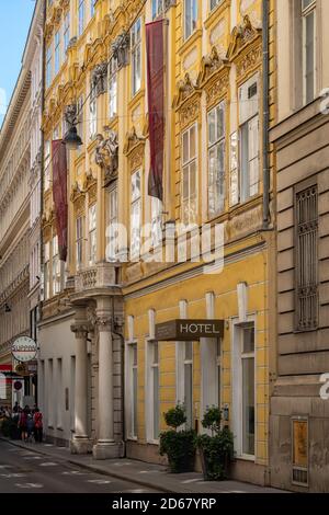
<path fill-rule="evenodd" d="M 263 228 L 270 225 L 270 159 L 269 159 L 269 130 L 270 130 L 270 99 L 269 99 L 269 0 L 263 0 L 262 14 L 262 52 L 263 52 Z"/>

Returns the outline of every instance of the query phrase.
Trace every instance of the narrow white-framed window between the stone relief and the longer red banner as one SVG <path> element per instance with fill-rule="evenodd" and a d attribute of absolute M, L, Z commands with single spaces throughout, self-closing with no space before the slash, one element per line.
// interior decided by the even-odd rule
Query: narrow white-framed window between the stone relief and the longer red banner
<path fill-rule="evenodd" d="M 140 170 L 137 170 L 132 175 L 131 258 L 139 256 L 140 224 L 141 224 L 141 172 Z"/>

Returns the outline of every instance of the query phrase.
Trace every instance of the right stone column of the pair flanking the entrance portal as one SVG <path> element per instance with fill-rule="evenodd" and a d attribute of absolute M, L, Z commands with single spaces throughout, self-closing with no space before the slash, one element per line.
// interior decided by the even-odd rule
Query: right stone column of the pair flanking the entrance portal
<path fill-rule="evenodd" d="M 112 316 L 109 297 L 98 299 L 99 330 L 99 420 L 98 442 L 93 446 L 95 459 L 117 458 L 120 444 L 114 440 L 114 402 L 113 402 L 113 341 Z"/>

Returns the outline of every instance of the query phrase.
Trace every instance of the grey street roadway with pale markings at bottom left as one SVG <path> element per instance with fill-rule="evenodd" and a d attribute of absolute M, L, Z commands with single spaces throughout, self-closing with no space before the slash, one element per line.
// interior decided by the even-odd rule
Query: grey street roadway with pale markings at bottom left
<path fill-rule="evenodd" d="M 0 493 L 156 493 L 0 440 Z"/>

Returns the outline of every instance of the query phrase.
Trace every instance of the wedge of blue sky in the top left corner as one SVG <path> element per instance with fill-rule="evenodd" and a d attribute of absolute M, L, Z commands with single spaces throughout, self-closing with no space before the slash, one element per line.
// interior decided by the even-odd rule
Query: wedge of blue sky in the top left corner
<path fill-rule="evenodd" d="M 0 0 L 0 127 L 15 87 L 35 0 Z"/>

